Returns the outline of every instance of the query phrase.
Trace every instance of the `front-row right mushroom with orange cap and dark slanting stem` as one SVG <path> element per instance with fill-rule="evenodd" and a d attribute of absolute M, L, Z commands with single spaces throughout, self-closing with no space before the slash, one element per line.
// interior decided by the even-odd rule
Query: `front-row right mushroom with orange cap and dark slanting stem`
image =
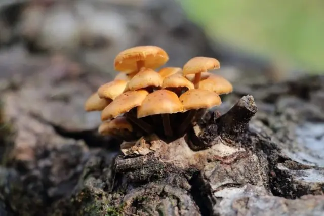
<path fill-rule="evenodd" d="M 209 109 L 214 106 L 219 106 L 222 103 L 218 94 L 204 89 L 188 90 L 183 93 L 179 99 L 183 105 L 184 111 L 189 111 L 178 129 L 180 135 L 186 131 L 198 109 Z"/>

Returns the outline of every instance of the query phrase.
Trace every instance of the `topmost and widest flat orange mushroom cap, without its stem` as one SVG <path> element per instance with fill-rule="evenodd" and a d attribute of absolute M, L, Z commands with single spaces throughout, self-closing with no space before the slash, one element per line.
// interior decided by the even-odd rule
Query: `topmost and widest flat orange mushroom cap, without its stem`
<path fill-rule="evenodd" d="M 137 71 L 137 62 L 144 61 L 143 67 L 155 69 L 169 60 L 165 50 L 156 46 L 137 46 L 121 51 L 114 60 L 114 68 L 124 73 Z"/>

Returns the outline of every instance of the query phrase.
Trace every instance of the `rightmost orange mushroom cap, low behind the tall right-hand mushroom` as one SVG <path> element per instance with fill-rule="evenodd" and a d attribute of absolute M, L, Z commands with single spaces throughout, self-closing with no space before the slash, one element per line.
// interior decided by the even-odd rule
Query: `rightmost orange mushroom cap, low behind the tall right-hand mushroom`
<path fill-rule="evenodd" d="M 199 89 L 213 91 L 217 94 L 228 94 L 233 91 L 232 84 L 224 77 L 212 74 L 199 82 Z"/>

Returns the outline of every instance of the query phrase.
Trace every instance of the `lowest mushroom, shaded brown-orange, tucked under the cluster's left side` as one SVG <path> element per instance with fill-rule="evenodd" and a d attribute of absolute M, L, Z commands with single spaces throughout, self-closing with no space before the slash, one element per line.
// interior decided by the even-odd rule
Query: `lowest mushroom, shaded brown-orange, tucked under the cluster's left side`
<path fill-rule="evenodd" d="M 101 135 L 109 135 L 120 140 L 134 140 L 133 126 L 124 116 L 119 116 L 111 121 L 104 121 L 100 124 L 98 132 Z"/>

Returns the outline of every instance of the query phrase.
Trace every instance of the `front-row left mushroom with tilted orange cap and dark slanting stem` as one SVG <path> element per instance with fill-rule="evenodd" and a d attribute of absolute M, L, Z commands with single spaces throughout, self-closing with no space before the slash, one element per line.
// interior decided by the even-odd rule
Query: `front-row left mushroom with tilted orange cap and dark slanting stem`
<path fill-rule="evenodd" d="M 144 121 L 137 119 L 129 112 L 131 109 L 142 104 L 149 93 L 146 90 L 128 91 L 115 98 L 106 108 L 102 110 L 101 120 L 110 120 L 125 113 L 125 117 L 141 127 L 145 132 L 151 133 L 152 127 Z"/>

